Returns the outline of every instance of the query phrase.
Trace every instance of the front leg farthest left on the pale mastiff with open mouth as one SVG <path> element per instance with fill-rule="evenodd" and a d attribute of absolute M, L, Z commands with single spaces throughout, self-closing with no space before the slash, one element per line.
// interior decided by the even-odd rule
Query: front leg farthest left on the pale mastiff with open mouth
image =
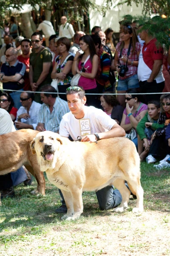
<path fill-rule="evenodd" d="M 61 190 L 62 195 L 64 196 L 65 204 L 67 206 L 67 213 L 62 216 L 61 219 L 71 220 L 72 216 L 74 215 L 74 206 L 73 206 L 73 199 L 71 193 L 65 190 Z"/>

